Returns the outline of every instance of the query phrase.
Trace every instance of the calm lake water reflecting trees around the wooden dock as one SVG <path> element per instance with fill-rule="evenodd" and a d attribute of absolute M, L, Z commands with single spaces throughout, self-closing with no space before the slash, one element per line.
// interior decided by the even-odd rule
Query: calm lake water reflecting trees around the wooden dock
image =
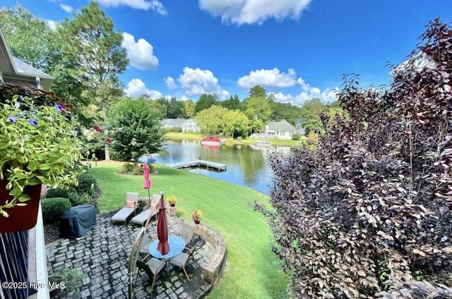
<path fill-rule="evenodd" d="M 160 164 L 169 164 L 196 159 L 226 164 L 226 171 L 190 169 L 203 176 L 244 185 L 261 193 L 268 194 L 272 184 L 272 173 L 268 165 L 270 152 L 287 154 L 290 147 L 255 147 L 254 145 L 221 145 L 221 147 L 202 146 L 200 141 L 165 140 L 165 152 L 153 155 Z"/>

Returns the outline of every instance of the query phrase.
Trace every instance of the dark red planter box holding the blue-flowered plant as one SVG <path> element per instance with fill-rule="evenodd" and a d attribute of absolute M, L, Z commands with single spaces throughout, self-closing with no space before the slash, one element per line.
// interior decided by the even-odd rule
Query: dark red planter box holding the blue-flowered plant
<path fill-rule="evenodd" d="M 25 207 L 12 207 L 6 209 L 9 217 L 0 215 L 0 233 L 12 231 L 26 231 L 36 225 L 37 212 L 40 207 L 41 185 L 25 187 L 25 194 L 30 196 L 30 200 L 25 202 Z M 0 181 L 0 205 L 4 205 L 6 200 L 12 200 L 6 190 L 6 181 Z"/>

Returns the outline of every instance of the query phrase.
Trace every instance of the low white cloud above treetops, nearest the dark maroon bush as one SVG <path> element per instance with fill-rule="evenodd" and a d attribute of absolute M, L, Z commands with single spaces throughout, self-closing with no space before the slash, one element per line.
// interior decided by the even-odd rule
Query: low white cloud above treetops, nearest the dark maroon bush
<path fill-rule="evenodd" d="M 318 97 L 324 103 L 331 103 L 337 100 L 336 94 L 338 92 L 338 87 L 333 89 L 327 88 L 321 91 L 318 87 L 311 87 L 309 84 L 305 83 L 303 78 L 298 78 L 297 83 L 302 87 L 302 92 L 292 96 L 292 94 L 283 94 L 281 92 L 275 93 L 275 99 L 278 102 L 291 102 L 294 105 L 302 106 L 304 102 L 313 97 Z"/>

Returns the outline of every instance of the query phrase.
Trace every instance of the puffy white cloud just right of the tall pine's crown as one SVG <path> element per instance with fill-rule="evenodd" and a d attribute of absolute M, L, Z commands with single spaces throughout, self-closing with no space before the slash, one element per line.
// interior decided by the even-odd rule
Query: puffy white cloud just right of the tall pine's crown
<path fill-rule="evenodd" d="M 135 42 L 135 37 L 127 32 L 124 32 L 122 37 L 121 46 L 127 50 L 131 66 L 141 70 L 158 68 L 158 59 L 153 54 L 152 44 L 142 38 Z"/>

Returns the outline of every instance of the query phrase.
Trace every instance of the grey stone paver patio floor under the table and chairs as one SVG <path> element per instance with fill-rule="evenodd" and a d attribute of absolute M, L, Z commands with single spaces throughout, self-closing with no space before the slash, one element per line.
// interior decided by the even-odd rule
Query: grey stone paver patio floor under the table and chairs
<path fill-rule="evenodd" d="M 78 269 L 83 274 L 83 285 L 72 293 L 65 293 L 61 298 L 97 299 L 128 298 L 127 262 L 133 240 L 131 234 L 140 226 L 133 224 L 112 224 L 111 214 L 97 217 L 97 224 L 82 238 L 60 239 L 47 247 L 47 257 L 52 269 L 62 267 Z M 169 234 L 177 234 L 182 228 L 182 220 L 168 217 Z M 150 238 L 157 238 L 156 222 L 148 227 Z M 190 260 L 186 271 L 169 266 L 169 274 L 160 272 L 150 293 L 150 277 L 140 271 L 136 283 L 133 284 L 135 298 L 201 298 L 211 288 L 203 279 L 203 267 L 214 255 L 214 247 L 206 242 L 198 247 L 194 258 L 199 267 Z M 135 276 L 134 276 L 135 277 Z"/>

